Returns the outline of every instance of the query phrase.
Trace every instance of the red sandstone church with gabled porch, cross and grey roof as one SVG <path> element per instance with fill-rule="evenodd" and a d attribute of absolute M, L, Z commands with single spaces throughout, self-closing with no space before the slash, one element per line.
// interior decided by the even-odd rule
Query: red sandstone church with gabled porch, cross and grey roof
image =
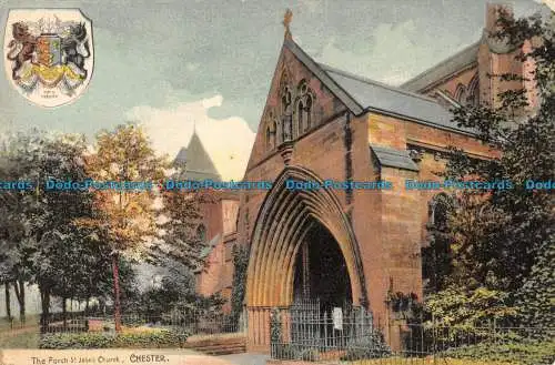
<path fill-rule="evenodd" d="M 243 178 L 273 186 L 241 191 L 238 231 L 228 242 L 250 247 L 244 304 L 251 349 L 269 348 L 269 308 L 301 298 L 327 308 L 362 306 L 383 329 L 396 321 L 389 293 L 422 300 L 421 251 L 440 191 L 407 190 L 405 181 L 440 181 L 435 172 L 444 169 L 448 146 L 476 159 L 495 155 L 451 121 L 451 108 L 497 105 L 496 95 L 515 88 L 529 90 L 531 104 L 537 103 L 533 85 L 488 77 L 533 69 L 515 61 L 521 49 L 491 36 L 501 11 L 511 9 L 488 6 L 476 43 L 400 88 L 316 62 L 295 43 L 286 14 Z M 325 187 L 330 180 L 346 184 Z M 291 181 L 323 187 L 295 190 Z M 391 189 L 351 184 L 379 181 Z M 398 334 L 384 334 L 395 346 Z"/>

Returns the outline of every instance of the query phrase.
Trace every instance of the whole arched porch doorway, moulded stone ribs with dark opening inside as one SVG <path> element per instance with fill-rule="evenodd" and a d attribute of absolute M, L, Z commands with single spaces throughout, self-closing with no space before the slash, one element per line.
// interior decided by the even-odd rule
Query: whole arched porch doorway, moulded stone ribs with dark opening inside
<path fill-rule="evenodd" d="M 369 305 L 359 244 L 337 196 L 323 187 L 294 190 L 291 181 L 323 186 L 313 172 L 287 166 L 259 210 L 245 296 L 251 349 L 269 349 L 271 310 L 291 308 L 309 286 L 307 297 L 324 311 L 345 302 Z"/>

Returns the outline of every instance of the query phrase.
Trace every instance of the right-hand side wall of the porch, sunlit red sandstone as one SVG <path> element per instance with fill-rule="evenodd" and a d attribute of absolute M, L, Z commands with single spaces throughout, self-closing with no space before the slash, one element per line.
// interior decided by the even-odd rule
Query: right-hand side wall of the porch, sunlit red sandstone
<path fill-rule="evenodd" d="M 363 226 L 355 225 L 359 242 L 363 242 L 366 281 L 370 298 L 379 323 L 389 321 L 385 305 L 386 293 L 415 293 L 422 298 L 421 247 L 426 244 L 427 206 L 440 191 L 407 191 L 406 179 L 440 181 L 435 173 L 444 169 L 445 161 L 436 152 L 446 151 L 448 145 L 457 145 L 471 155 L 487 158 L 494 153 L 475 139 L 433 129 L 413 122 L 370 114 L 367 116 L 367 142 L 395 150 L 420 149 L 423 151 L 418 172 L 392 168 L 381 169 L 381 179 L 391 181 L 391 191 L 363 192 L 355 199 L 355 217 L 372 215 Z M 361 165 L 372 165 L 363 159 L 355 161 L 355 171 Z M 377 179 L 366 171 L 370 179 Z M 379 196 L 376 196 L 379 195 Z M 372 207 L 369 210 L 367 207 Z M 370 214 L 369 214 L 370 212 Z M 356 222 L 356 220 L 355 220 Z M 374 239 L 376 237 L 376 239 Z M 377 241 L 377 242 L 376 242 Z M 372 260 L 379 257 L 377 260 Z M 383 321 L 383 322 L 382 322 Z"/>

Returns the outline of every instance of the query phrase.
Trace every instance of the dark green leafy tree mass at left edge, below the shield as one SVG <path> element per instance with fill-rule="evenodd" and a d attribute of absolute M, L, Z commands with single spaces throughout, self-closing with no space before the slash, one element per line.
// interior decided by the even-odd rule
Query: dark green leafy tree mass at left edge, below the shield
<path fill-rule="evenodd" d="M 91 193 L 47 187 L 47 181 L 84 180 L 85 149 L 82 135 L 30 131 L 14 135 L 2 159 L 6 180 L 34 184 L 4 195 L 9 202 L 2 206 L 2 271 L 18 283 L 16 294 L 23 310 L 24 283 L 39 285 L 43 325 L 51 294 L 70 297 L 87 277 L 95 285 L 101 282 L 85 261 L 91 256 L 84 254 L 83 249 L 89 247 L 82 244 L 84 236 L 78 237 L 73 226 L 75 219 L 90 216 Z"/>

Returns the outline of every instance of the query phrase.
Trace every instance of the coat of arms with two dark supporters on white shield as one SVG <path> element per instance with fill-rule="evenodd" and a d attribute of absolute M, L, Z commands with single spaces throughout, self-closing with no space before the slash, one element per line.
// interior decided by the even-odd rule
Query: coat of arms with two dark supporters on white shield
<path fill-rule="evenodd" d="M 93 68 L 92 24 L 78 9 L 10 10 L 6 72 L 13 87 L 41 107 L 75 100 Z"/>

